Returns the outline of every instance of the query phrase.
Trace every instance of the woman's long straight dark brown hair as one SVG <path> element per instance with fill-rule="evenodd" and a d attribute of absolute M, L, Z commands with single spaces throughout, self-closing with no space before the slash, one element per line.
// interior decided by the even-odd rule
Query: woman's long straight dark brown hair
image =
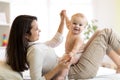
<path fill-rule="evenodd" d="M 31 24 L 37 17 L 30 15 L 17 16 L 11 26 L 8 45 L 6 48 L 7 64 L 15 71 L 21 72 L 28 69 L 26 34 L 31 35 Z"/>

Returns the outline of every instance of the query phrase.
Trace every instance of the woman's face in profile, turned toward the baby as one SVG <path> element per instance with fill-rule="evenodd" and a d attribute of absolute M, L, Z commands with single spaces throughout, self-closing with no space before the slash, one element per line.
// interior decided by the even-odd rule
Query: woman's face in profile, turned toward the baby
<path fill-rule="evenodd" d="M 31 26 L 32 26 L 32 28 L 31 28 L 31 30 L 30 30 L 31 35 L 28 35 L 28 36 L 27 36 L 27 39 L 28 39 L 30 42 L 34 42 L 34 41 L 37 41 L 37 40 L 39 39 L 40 29 L 38 28 L 38 23 L 37 23 L 36 20 L 33 20 Z"/>

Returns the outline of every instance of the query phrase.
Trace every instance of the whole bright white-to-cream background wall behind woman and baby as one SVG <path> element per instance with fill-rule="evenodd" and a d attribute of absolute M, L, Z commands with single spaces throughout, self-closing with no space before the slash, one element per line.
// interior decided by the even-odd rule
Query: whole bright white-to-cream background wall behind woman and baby
<path fill-rule="evenodd" d="M 84 6 L 86 4 L 89 8 Z M 45 35 L 41 35 L 41 41 L 44 41 L 56 32 L 60 10 L 67 9 L 68 16 L 75 12 L 83 12 L 89 20 L 98 19 L 100 27 L 112 27 L 120 31 L 119 7 L 119 0 L 79 0 L 76 2 L 72 0 L 11 0 L 11 22 L 19 14 L 37 16 L 40 29 L 42 29 L 41 34 Z"/>

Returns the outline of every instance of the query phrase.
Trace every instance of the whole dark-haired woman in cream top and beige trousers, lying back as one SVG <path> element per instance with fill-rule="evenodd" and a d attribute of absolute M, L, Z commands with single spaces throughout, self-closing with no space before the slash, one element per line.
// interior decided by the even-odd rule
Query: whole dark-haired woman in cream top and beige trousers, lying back
<path fill-rule="evenodd" d="M 7 63 L 17 72 L 30 68 L 32 80 L 51 80 L 60 70 L 69 68 L 69 62 L 58 64 L 53 47 L 61 43 L 63 16 L 60 27 L 52 40 L 39 43 L 37 19 L 34 16 L 21 15 L 14 20 L 8 46 Z M 120 53 L 120 38 L 111 29 L 103 29 L 91 41 L 82 53 L 77 64 L 69 70 L 69 79 L 92 78 L 106 54 L 108 45 Z"/>

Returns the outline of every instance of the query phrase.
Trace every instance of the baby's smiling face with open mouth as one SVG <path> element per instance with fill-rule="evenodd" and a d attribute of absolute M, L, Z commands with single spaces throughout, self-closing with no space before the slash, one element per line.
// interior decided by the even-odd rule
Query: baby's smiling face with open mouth
<path fill-rule="evenodd" d="M 80 34 L 86 26 L 85 19 L 81 17 L 73 17 L 71 20 L 71 24 L 71 30 L 76 35 Z"/>

